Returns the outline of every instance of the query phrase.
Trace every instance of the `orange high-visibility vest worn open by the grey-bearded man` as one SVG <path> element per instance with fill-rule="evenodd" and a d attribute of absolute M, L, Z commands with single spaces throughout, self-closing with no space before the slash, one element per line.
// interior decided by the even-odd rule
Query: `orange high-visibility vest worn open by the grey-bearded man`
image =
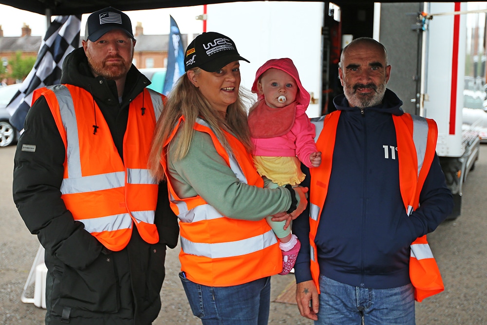
<path fill-rule="evenodd" d="M 317 147 L 321 151 L 321 165 L 318 168 L 310 169 L 311 274 L 318 293 L 319 265 L 315 238 L 321 209 L 328 192 L 340 113 L 340 111 L 336 111 L 326 115 L 322 127 L 317 125 L 317 134 L 324 134 L 322 137 L 317 135 Z M 419 194 L 434 158 L 438 129 L 432 119 L 416 115 L 393 115 L 393 121 L 397 138 L 399 186 L 404 207 L 410 215 L 419 206 Z M 414 298 L 418 302 L 444 290 L 441 274 L 431 253 L 426 235 L 417 238 L 411 244 L 409 273 L 411 283 L 415 288 Z"/>

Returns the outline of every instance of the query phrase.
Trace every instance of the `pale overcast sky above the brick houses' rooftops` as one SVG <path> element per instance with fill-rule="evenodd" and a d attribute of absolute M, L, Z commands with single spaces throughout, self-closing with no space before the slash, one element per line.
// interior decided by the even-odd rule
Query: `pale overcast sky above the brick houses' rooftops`
<path fill-rule="evenodd" d="M 137 10 L 126 13 L 131 19 L 133 29 L 135 30 L 137 21 L 140 21 L 144 27 L 144 34 L 147 35 L 169 34 L 169 15 L 176 20 L 182 34 L 198 34 L 203 31 L 203 22 L 195 19 L 196 16 L 203 14 L 203 6 Z M 88 16 L 83 15 L 81 18 L 81 35 L 84 35 Z M 0 4 L 0 25 L 4 37 L 20 36 L 24 23 L 31 28 L 32 36 L 44 37 L 46 21 L 42 15 Z"/>

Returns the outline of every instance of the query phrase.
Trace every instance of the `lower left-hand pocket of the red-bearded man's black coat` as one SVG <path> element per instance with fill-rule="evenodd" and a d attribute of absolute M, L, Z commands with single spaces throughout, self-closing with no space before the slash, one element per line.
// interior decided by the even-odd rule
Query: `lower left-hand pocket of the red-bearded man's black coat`
<path fill-rule="evenodd" d="M 112 254 L 100 254 L 83 270 L 64 267 L 59 304 L 94 312 L 117 312 L 120 304 Z"/>

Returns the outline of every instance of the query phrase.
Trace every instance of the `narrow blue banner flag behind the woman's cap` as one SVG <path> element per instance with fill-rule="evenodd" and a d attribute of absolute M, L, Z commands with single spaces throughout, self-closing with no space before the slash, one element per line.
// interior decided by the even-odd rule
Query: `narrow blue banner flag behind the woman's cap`
<path fill-rule="evenodd" d="M 171 31 L 169 33 L 169 49 L 168 49 L 168 68 L 166 71 L 166 79 L 164 80 L 164 89 L 162 93 L 167 95 L 172 89 L 172 85 L 176 80 L 184 74 L 184 46 L 183 38 L 179 32 L 176 20 L 171 19 Z"/>

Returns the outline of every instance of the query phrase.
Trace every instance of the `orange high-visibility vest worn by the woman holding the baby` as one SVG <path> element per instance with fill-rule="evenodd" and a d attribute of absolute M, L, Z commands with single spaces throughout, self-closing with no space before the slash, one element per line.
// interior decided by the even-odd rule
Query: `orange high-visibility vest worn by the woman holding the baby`
<path fill-rule="evenodd" d="M 184 117 L 181 117 L 161 157 L 168 176 L 170 206 L 179 218 L 181 269 L 189 280 L 210 287 L 237 286 L 281 272 L 281 249 L 276 235 L 264 219 L 230 219 L 200 195 L 181 198 L 174 191 L 166 156 L 168 144 L 183 121 Z M 236 137 L 224 131 L 231 148 L 229 153 L 206 121 L 198 118 L 193 128 L 211 136 L 217 152 L 241 183 L 263 187 L 262 177 L 256 172 L 251 155 Z"/>

